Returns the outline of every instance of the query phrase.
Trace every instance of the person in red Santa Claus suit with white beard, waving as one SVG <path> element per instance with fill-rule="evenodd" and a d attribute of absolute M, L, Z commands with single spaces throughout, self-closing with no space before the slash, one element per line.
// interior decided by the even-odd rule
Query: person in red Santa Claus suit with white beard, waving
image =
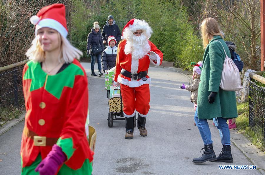
<path fill-rule="evenodd" d="M 146 117 L 150 109 L 151 83 L 147 71 L 150 62 L 159 66 L 163 53 L 150 42 L 152 29 L 144 20 L 131 19 L 122 31 L 122 41 L 118 45 L 114 83 L 120 85 L 123 113 L 125 116 L 125 139 L 133 137 L 133 116 L 139 113 L 137 127 L 140 135 L 147 136 Z"/>

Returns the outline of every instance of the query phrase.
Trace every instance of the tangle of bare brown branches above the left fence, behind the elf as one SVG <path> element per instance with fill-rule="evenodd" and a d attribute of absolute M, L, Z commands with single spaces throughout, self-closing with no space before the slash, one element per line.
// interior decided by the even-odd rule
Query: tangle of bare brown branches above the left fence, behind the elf
<path fill-rule="evenodd" d="M 64 3 L 69 22 L 71 1 L 0 0 L 0 67 L 26 59 L 26 50 L 34 38 L 34 25 L 30 23 L 30 17 L 43 6 Z"/>

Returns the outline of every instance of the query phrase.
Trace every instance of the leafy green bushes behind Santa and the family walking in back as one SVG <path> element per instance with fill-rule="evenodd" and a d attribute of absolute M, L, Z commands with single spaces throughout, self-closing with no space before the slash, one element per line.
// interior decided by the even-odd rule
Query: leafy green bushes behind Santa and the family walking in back
<path fill-rule="evenodd" d="M 180 1 L 168 0 L 110 0 L 103 6 L 87 9 L 82 1 L 74 0 L 71 41 L 83 53 L 86 53 L 87 35 L 93 23 L 99 22 L 102 30 L 108 15 L 113 15 L 120 31 L 132 18 L 144 19 L 153 30 L 150 41 L 164 54 L 165 61 L 175 66 L 191 69 L 190 63 L 203 58 L 201 39 L 194 34 L 194 28 L 188 21 L 186 9 Z"/>

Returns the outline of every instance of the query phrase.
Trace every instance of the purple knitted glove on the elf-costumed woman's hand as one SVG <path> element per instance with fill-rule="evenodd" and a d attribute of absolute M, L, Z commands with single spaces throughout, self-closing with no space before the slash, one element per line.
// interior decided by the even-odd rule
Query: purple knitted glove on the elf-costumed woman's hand
<path fill-rule="evenodd" d="M 66 161 L 66 156 L 62 152 L 62 148 L 54 144 L 52 150 L 47 157 L 39 163 L 35 171 L 39 171 L 40 175 L 54 175 L 64 161 Z"/>

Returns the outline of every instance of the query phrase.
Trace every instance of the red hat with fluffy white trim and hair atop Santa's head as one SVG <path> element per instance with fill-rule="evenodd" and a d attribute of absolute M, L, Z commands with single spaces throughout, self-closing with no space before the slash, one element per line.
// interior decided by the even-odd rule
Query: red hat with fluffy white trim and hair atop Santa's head
<path fill-rule="evenodd" d="M 121 39 L 126 39 L 127 38 L 127 31 L 130 30 L 132 33 L 136 32 L 136 30 L 142 30 L 144 35 L 149 39 L 152 34 L 152 29 L 149 26 L 145 20 L 140 20 L 140 19 L 131 19 L 127 24 L 124 26 L 122 30 L 122 36 Z"/>

